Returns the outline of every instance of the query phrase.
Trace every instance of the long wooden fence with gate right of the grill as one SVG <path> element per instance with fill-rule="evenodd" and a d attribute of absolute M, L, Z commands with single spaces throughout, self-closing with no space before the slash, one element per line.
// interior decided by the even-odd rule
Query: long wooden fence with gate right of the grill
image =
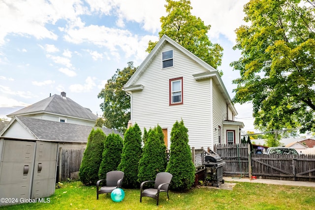
<path fill-rule="evenodd" d="M 315 181 L 315 155 L 250 154 L 247 144 L 215 145 L 214 151 L 225 161 L 225 176 Z"/>

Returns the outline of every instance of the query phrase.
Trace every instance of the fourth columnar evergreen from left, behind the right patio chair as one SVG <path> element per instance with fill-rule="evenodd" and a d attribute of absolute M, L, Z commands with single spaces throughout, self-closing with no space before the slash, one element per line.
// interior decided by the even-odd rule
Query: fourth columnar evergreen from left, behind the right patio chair
<path fill-rule="evenodd" d="M 160 135 L 162 129 L 160 126 L 158 127 L 149 132 L 143 147 L 142 157 L 139 161 L 138 180 L 140 183 L 145 180 L 155 180 L 157 173 L 166 170 L 166 146 L 164 136 Z"/>

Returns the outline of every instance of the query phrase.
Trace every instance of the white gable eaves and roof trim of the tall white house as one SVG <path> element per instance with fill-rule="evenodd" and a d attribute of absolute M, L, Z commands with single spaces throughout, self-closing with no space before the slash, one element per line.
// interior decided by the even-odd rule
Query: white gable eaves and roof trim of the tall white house
<path fill-rule="evenodd" d="M 225 89 L 225 86 L 222 82 L 222 79 L 219 75 L 219 72 L 206 63 L 205 61 L 199 59 L 197 56 L 192 54 L 189 50 L 169 38 L 167 35 L 163 35 L 162 38 L 158 41 L 158 44 L 155 46 L 155 48 L 151 51 L 151 53 L 147 56 L 147 58 L 140 64 L 139 68 L 136 70 L 136 72 L 131 76 L 131 78 L 128 80 L 126 85 L 124 86 L 125 91 L 133 91 L 133 90 L 142 90 L 145 87 L 141 84 L 136 84 L 136 82 L 139 80 L 139 78 L 143 75 L 143 73 L 146 71 L 146 69 L 150 66 L 151 62 L 155 59 L 155 57 L 158 55 L 158 53 L 161 52 L 163 46 L 165 46 L 166 43 L 169 43 L 176 47 L 178 50 L 182 51 L 185 55 L 187 55 L 190 59 L 194 60 L 201 66 L 203 66 L 205 69 L 207 69 L 209 72 L 201 73 L 201 74 L 194 74 L 192 75 L 196 80 L 206 79 L 206 78 L 212 78 L 216 85 L 218 86 L 220 92 L 222 93 L 222 96 L 224 97 L 226 104 L 230 107 L 234 115 L 237 115 L 237 111 L 232 104 L 231 98 Z"/>

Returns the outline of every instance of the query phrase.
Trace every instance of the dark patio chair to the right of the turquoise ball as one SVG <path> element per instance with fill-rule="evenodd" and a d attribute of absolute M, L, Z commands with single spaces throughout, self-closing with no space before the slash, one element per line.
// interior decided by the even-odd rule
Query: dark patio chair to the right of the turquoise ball
<path fill-rule="evenodd" d="M 168 187 L 171 183 L 173 175 L 167 172 L 160 172 L 157 174 L 155 181 L 144 181 L 140 185 L 140 202 L 142 201 L 142 197 L 151 197 L 157 200 L 158 206 L 158 198 L 160 192 L 166 192 L 168 197 Z M 144 189 L 144 186 L 148 182 L 154 182 L 154 188 Z"/>

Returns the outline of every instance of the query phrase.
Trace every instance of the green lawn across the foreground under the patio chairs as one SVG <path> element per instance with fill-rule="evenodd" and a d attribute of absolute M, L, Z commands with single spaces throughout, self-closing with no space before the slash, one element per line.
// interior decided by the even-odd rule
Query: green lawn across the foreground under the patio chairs
<path fill-rule="evenodd" d="M 238 182 L 233 190 L 196 187 L 188 192 L 160 193 L 156 200 L 143 197 L 140 203 L 139 189 L 124 189 L 121 202 L 112 201 L 110 194 L 101 194 L 96 200 L 96 187 L 84 186 L 79 181 L 63 182 L 50 196 L 50 203 L 30 203 L 6 206 L 8 210 L 314 210 L 315 187 L 284 186 Z"/>

